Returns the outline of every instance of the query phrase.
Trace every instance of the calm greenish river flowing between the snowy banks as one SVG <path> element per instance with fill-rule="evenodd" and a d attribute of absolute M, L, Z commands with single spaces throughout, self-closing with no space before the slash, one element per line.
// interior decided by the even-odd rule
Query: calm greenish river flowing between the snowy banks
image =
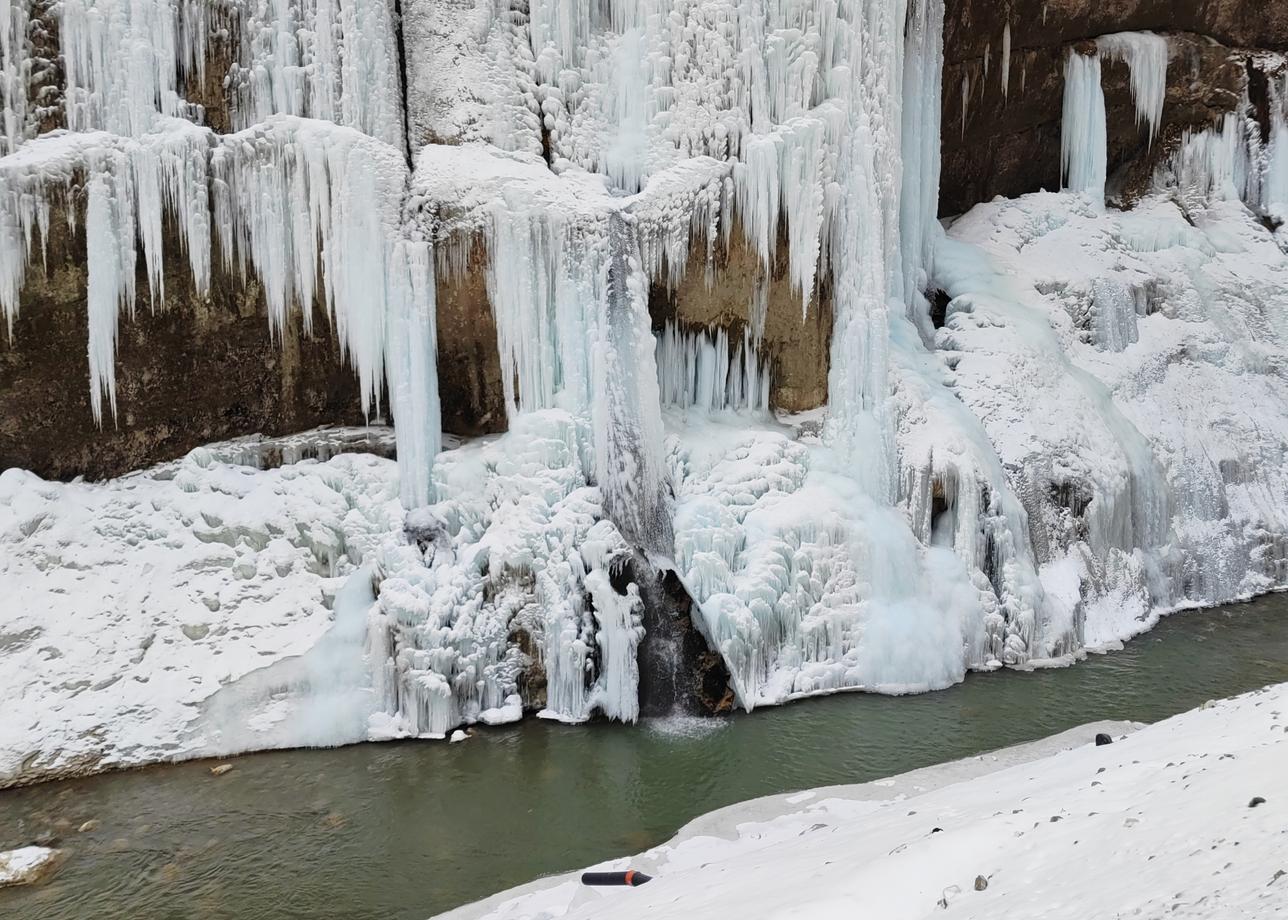
<path fill-rule="evenodd" d="M 1095 719 L 1153 722 L 1288 680 L 1288 597 L 1186 613 L 1075 666 L 921 697 L 836 696 L 724 720 L 540 723 L 466 743 L 259 754 L 0 792 L 0 849 L 52 831 L 48 884 L 0 916 L 380 917 L 438 911 L 644 849 L 759 795 L 863 782 Z M 98 821 L 85 834 L 82 822 Z"/>

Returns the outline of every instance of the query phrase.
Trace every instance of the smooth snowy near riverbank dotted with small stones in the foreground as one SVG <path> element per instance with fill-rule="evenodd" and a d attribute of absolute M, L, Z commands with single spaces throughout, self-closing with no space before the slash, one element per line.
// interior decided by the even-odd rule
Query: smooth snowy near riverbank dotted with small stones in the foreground
<path fill-rule="evenodd" d="M 1115 742 L 1096 746 L 1097 732 Z M 1282 916 L 1285 774 L 1288 684 L 1278 684 L 1153 725 L 1092 723 L 887 780 L 732 805 L 596 866 L 647 872 L 644 888 L 553 876 L 439 920 L 826 920 L 860 906 L 881 917 L 944 907 Z"/>

